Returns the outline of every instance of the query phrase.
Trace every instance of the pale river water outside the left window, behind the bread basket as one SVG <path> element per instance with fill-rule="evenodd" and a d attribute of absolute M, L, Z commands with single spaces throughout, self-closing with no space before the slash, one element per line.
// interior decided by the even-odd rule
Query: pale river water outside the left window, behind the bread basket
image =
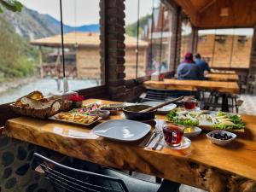
<path fill-rule="evenodd" d="M 82 90 L 99 85 L 98 81 L 90 79 L 68 79 L 69 90 Z M 0 95 L 0 104 L 14 102 L 17 98 L 25 96 L 33 90 L 40 90 L 44 95 L 57 91 L 55 79 L 36 79 L 34 82 L 24 84 L 18 88 L 8 90 Z"/>

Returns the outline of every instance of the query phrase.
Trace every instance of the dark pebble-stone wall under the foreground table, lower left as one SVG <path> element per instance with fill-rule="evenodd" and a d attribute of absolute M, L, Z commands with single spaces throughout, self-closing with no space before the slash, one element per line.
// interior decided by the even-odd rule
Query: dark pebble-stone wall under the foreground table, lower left
<path fill-rule="evenodd" d="M 0 137 L 1 192 L 54 192 L 51 184 L 33 171 L 35 151 L 35 145 Z"/>

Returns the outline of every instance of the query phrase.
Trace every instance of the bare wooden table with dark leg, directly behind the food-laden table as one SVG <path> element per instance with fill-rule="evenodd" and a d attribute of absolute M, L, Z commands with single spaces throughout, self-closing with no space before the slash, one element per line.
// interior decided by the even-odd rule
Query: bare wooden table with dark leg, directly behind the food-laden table
<path fill-rule="evenodd" d="M 144 82 L 144 85 L 149 88 L 160 90 L 217 90 L 222 94 L 222 111 L 225 112 L 229 111 L 227 95 L 239 93 L 239 86 L 237 82 L 164 79 L 164 81 L 149 80 Z"/>

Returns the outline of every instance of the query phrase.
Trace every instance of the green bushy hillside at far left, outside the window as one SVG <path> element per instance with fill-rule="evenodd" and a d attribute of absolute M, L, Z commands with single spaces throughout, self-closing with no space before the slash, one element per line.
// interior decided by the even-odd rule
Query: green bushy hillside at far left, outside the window
<path fill-rule="evenodd" d="M 0 15 L 0 82 L 35 73 L 37 51 Z"/>

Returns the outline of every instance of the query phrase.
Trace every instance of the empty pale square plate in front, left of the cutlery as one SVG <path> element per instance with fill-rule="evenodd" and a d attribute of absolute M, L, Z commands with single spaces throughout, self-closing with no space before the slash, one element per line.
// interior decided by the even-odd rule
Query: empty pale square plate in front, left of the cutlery
<path fill-rule="evenodd" d="M 128 119 L 116 119 L 96 125 L 92 132 L 117 141 L 133 142 L 146 136 L 150 129 L 151 126 L 148 124 Z"/>

